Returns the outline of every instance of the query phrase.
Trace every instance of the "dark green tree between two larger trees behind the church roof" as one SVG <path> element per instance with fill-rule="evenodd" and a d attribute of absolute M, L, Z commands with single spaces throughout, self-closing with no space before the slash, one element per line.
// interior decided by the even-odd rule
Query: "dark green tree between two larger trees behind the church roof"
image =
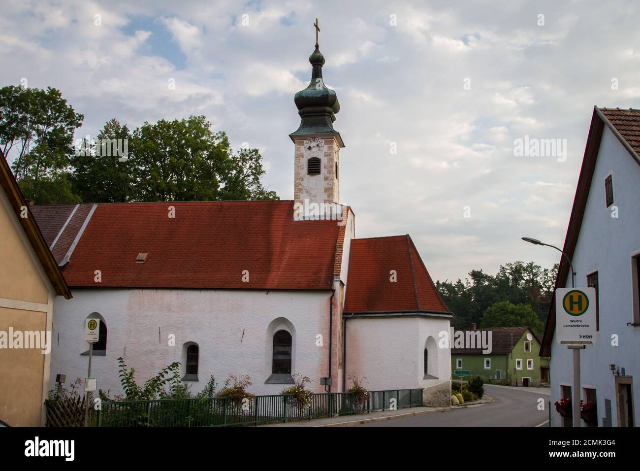
<path fill-rule="evenodd" d="M 128 153 L 131 140 L 129 128 L 112 119 L 106 122 L 96 139 L 93 144 L 84 141 L 80 151 L 72 158 L 74 192 L 85 202 L 133 201 L 135 181 L 131 161 L 128 156 L 127 160 L 122 160 L 122 156 L 113 155 L 113 149 L 109 145 L 120 140 L 122 145 L 118 149 L 126 148 Z M 108 145 L 102 147 L 102 142 Z M 104 155 L 102 149 L 105 148 L 109 155 Z"/>

